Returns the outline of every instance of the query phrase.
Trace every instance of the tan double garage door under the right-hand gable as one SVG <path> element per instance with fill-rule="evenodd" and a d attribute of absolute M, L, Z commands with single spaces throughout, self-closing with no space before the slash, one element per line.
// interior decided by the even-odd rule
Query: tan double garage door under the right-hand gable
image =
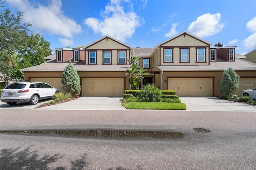
<path fill-rule="evenodd" d="M 178 96 L 212 96 L 212 78 L 169 78 L 168 90 Z"/>

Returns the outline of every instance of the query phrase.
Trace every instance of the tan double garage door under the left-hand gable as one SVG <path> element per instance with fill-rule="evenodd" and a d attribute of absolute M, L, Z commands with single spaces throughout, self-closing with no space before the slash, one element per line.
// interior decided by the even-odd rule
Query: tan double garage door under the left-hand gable
<path fill-rule="evenodd" d="M 122 78 L 83 78 L 82 96 L 122 96 L 124 79 Z"/>

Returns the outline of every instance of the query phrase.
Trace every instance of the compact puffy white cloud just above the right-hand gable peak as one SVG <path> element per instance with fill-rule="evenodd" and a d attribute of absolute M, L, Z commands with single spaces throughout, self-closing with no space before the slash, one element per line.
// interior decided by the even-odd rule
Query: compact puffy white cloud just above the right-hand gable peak
<path fill-rule="evenodd" d="M 192 22 L 188 26 L 188 31 L 195 34 L 198 37 L 213 36 L 220 32 L 224 28 L 224 24 L 220 23 L 221 14 L 203 14 L 196 18 L 196 21 Z"/>

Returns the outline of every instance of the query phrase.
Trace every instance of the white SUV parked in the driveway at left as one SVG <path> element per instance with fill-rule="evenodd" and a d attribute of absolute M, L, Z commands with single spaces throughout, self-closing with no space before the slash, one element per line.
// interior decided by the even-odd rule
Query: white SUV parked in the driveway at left
<path fill-rule="evenodd" d="M 12 83 L 2 89 L 1 101 L 8 105 L 15 105 L 17 102 L 29 102 L 36 105 L 42 99 L 54 97 L 59 89 L 42 82 L 18 82 Z"/>

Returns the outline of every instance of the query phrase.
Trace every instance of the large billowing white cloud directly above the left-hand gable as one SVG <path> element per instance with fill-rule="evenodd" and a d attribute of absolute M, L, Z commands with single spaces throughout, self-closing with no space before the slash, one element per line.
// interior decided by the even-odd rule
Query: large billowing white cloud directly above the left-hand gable
<path fill-rule="evenodd" d="M 121 2 L 112 0 L 101 12 L 102 20 L 86 18 L 84 23 L 94 31 L 94 34 L 109 35 L 125 42 L 127 38 L 135 33 L 135 29 L 140 26 L 141 20 L 135 12 L 125 12 L 120 5 Z"/>

